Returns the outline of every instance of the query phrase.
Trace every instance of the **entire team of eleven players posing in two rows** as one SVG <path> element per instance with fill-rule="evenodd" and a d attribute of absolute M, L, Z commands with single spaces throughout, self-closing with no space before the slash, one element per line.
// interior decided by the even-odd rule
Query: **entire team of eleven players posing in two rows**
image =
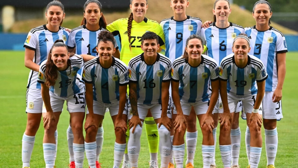
<path fill-rule="evenodd" d="M 209 21 L 186 15 L 188 0 L 168 0 L 172 17 L 160 23 L 145 16 L 147 0 L 129 1 L 130 15 L 107 24 L 100 0 L 87 0 L 81 25 L 69 29 L 62 25 L 63 4 L 54 0 L 46 7 L 47 23 L 28 33 L 22 168 L 36 167 L 30 160 L 41 122 L 45 167 L 56 168 L 65 102 L 64 167 L 83 168 L 85 157 L 89 168 L 143 167 L 141 144 L 148 143 L 146 167 L 194 168 L 202 141 L 203 168 L 262 167 L 262 149 L 264 166 L 275 168 L 288 49 L 282 32 L 270 26 L 271 4 L 255 0 L 255 25 L 244 28 L 229 21 L 228 0 L 214 1 Z M 111 165 L 100 160 L 104 129 L 112 130 L 103 127 L 106 113 L 115 132 Z M 246 165 L 239 164 L 239 122 L 246 122 Z M 215 158 L 216 143 L 221 157 Z"/>

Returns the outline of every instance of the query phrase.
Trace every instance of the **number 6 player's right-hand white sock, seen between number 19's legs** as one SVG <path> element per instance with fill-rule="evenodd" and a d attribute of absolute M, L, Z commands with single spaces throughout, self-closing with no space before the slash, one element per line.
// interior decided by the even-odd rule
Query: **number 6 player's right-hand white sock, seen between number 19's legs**
<path fill-rule="evenodd" d="M 231 146 L 232 146 L 232 166 L 239 165 L 239 153 L 240 153 L 241 131 L 240 128 L 231 129 Z"/>

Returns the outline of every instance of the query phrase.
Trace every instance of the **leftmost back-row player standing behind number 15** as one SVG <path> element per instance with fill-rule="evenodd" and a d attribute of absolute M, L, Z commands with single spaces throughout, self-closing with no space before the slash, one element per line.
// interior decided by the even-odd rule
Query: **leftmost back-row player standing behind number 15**
<path fill-rule="evenodd" d="M 30 69 L 30 73 L 26 93 L 27 125 L 22 139 L 23 168 L 30 167 L 30 158 L 33 151 L 35 135 L 42 116 L 43 99 L 40 95 L 41 85 L 37 82 L 39 65 L 47 59 L 47 54 L 54 44 L 54 41 L 62 39 L 67 43 L 69 34 L 61 27 L 65 13 L 64 6 L 60 1 L 54 0 L 48 3 L 45 15 L 47 24 L 31 29 L 24 43 L 25 66 Z M 57 137 L 58 132 L 56 131 L 56 144 Z"/>

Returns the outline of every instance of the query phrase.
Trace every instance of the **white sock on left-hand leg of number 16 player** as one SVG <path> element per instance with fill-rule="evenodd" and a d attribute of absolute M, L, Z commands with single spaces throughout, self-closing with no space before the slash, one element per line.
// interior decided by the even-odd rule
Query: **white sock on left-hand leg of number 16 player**
<path fill-rule="evenodd" d="M 143 124 L 143 123 L 142 123 Z M 142 127 L 137 125 L 134 133 L 132 133 L 133 129 L 130 129 L 129 140 L 127 143 L 127 151 L 130 162 L 130 167 L 138 167 L 138 158 L 141 149 L 141 134 Z"/>

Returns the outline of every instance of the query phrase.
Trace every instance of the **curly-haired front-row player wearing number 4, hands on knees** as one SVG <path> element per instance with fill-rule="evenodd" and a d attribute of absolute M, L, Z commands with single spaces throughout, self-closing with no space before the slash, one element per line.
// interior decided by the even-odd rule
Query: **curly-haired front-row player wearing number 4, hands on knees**
<path fill-rule="evenodd" d="M 115 38 L 109 31 L 102 31 L 98 35 L 96 47 L 99 57 L 85 64 L 83 80 L 86 86 L 86 103 L 88 106 L 85 130 L 85 150 L 89 166 L 95 168 L 96 136 L 99 123 L 102 123 L 106 108 L 115 126 L 116 141 L 114 145 L 114 166 L 119 168 L 125 147 L 126 121 L 122 119 L 126 103 L 126 89 L 129 83 L 129 72 L 126 65 L 115 53 Z"/>

